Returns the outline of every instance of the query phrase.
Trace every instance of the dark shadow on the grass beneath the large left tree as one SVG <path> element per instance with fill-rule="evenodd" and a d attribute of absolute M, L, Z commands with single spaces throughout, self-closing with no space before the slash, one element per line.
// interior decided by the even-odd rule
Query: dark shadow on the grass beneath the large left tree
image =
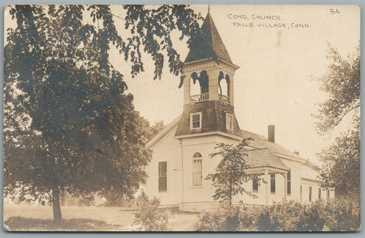
<path fill-rule="evenodd" d="M 121 227 L 112 226 L 100 220 L 63 219 L 55 221 L 25 217 L 10 217 L 4 222 L 4 228 L 13 231 L 112 231 L 121 229 Z"/>

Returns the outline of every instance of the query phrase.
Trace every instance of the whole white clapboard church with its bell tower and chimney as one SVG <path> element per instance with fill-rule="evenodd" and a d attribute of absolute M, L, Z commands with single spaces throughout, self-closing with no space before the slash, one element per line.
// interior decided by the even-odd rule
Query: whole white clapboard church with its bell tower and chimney
<path fill-rule="evenodd" d="M 304 165 L 307 159 L 275 143 L 273 125 L 268 126 L 267 138 L 240 129 L 234 114 L 234 73 L 240 67 L 231 61 L 209 12 L 201 32 L 203 40 L 194 42 L 184 62 L 184 111 L 147 144 L 153 154 L 144 192 L 160 198 L 162 207 L 216 208 L 219 202 L 212 198 L 216 188 L 204 178 L 216 172 L 220 159 L 210 154 L 216 152 L 216 143 L 238 144 L 252 137 L 244 151 L 248 172 L 267 183 L 244 184 L 257 198 L 239 195 L 234 203 L 269 205 L 332 198 L 333 190 L 320 188 L 318 172 Z"/>

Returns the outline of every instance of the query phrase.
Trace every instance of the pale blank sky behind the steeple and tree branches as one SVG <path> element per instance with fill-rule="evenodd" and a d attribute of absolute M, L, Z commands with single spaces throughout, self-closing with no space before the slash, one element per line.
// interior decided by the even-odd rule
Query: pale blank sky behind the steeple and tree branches
<path fill-rule="evenodd" d="M 192 8 L 204 17 L 207 14 L 207 5 Z M 112 12 L 125 16 L 121 5 L 113 5 Z M 318 163 L 316 153 L 333 143 L 340 132 L 347 131 L 351 120 L 344 118 L 333 133 L 318 135 L 316 119 L 311 115 L 316 114 L 316 103 L 325 101 L 327 94 L 320 92 L 314 79 L 327 71 L 328 43 L 344 56 L 355 51 L 360 40 L 360 8 L 210 5 L 210 14 L 232 62 L 240 66 L 234 76 L 234 107 L 240 129 L 267 137 L 268 125 L 274 124 L 277 144 Z M 4 16 L 5 29 L 14 27 L 6 10 Z M 114 21 L 127 38 L 122 18 L 114 17 Z M 178 38 L 175 32 L 174 47 L 184 61 L 187 39 Z M 127 92 L 134 94 L 136 110 L 152 123 L 163 120 L 168 124 L 183 110 L 179 77 L 171 75 L 165 64 L 162 79 L 153 81 L 153 61 L 149 55 L 142 55 L 142 59 L 145 71 L 132 79 L 130 64 L 116 49 L 110 50 L 110 61 L 125 76 Z"/>

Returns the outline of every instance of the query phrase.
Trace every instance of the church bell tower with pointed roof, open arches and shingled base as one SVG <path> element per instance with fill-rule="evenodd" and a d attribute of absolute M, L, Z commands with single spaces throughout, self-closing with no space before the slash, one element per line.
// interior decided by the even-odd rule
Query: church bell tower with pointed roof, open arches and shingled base
<path fill-rule="evenodd" d="M 201 38 L 192 38 L 184 62 L 184 111 L 175 137 L 207 133 L 241 137 L 234 115 L 234 73 L 238 68 L 208 11 Z"/>

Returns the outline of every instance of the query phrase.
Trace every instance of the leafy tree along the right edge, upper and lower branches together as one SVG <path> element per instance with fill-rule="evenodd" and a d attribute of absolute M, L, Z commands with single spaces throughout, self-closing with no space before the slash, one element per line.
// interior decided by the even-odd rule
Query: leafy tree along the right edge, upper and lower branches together
<path fill-rule="evenodd" d="M 325 187 L 336 188 L 337 195 L 360 196 L 360 44 L 347 58 L 329 45 L 327 58 L 331 64 L 318 81 L 329 98 L 319 105 L 316 128 L 323 135 L 344 118 L 351 123 L 332 146 L 318 154 L 323 162 L 320 176 Z"/>

